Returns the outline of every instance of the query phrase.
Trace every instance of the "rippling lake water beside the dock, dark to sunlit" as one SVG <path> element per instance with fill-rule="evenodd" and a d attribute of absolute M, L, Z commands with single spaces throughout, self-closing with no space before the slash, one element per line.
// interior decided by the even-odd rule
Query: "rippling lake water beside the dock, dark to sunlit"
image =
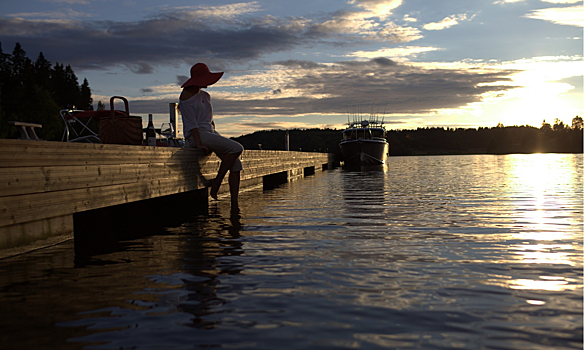
<path fill-rule="evenodd" d="M 582 349 L 582 155 L 390 158 L 75 266 L 0 260 L 3 349 Z M 137 213 L 139 215 L 139 213 Z"/>

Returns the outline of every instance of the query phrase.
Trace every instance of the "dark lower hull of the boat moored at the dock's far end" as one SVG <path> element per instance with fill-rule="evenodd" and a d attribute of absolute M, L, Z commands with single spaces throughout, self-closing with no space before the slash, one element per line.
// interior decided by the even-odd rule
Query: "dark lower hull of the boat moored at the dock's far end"
<path fill-rule="evenodd" d="M 339 144 L 345 165 L 385 164 L 389 145 L 381 140 L 348 140 Z"/>

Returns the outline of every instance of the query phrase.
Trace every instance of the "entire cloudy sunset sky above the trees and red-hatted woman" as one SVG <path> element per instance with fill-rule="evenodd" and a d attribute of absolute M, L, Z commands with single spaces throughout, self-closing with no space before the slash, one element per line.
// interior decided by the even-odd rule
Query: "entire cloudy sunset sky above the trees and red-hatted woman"
<path fill-rule="evenodd" d="M 584 115 L 579 0 L 19 0 L 0 44 L 87 79 L 94 105 L 126 97 L 159 127 L 190 67 L 217 130 L 531 125 Z M 117 108 L 117 106 L 116 106 Z"/>

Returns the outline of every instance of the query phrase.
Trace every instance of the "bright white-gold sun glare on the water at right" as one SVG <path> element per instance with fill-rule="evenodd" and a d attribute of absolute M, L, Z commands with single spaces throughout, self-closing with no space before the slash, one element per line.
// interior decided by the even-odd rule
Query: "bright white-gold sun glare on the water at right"
<path fill-rule="evenodd" d="M 510 155 L 504 169 L 508 187 L 502 196 L 509 201 L 510 263 L 533 266 L 582 266 L 582 178 L 576 156 L 546 154 Z M 560 272 L 558 272 L 559 274 Z M 526 278 L 527 277 L 527 278 Z M 517 290 L 574 291 L 581 280 L 568 276 L 528 276 L 489 280 Z M 541 301 L 528 303 L 543 305 Z"/>

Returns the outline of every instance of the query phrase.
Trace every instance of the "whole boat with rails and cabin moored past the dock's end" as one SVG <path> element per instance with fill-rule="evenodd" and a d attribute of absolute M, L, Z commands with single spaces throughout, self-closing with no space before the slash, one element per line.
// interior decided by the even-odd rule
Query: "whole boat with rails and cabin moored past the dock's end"
<path fill-rule="evenodd" d="M 385 139 L 385 127 L 377 120 L 361 120 L 349 123 L 339 144 L 344 165 L 385 164 L 389 155 L 389 143 Z"/>

